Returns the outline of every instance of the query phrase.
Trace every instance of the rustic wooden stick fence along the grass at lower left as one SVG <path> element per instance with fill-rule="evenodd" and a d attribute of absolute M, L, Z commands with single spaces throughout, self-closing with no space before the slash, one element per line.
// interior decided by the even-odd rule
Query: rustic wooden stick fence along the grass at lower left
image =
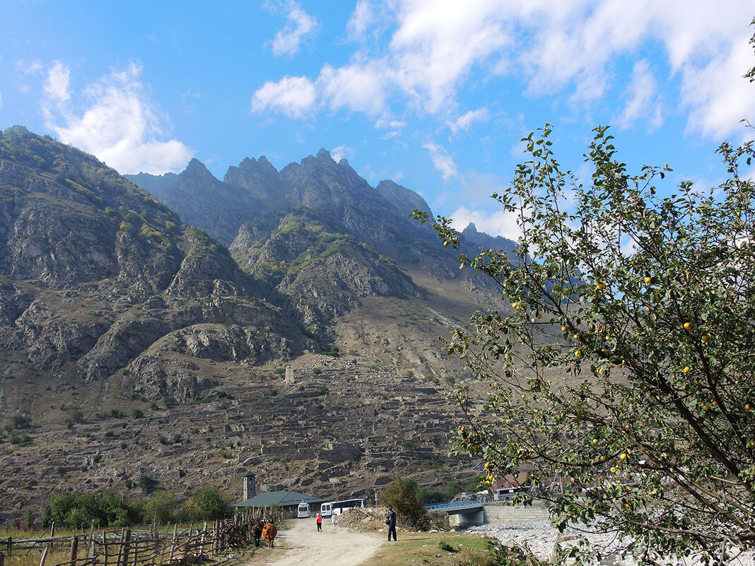
<path fill-rule="evenodd" d="M 260 515 L 262 516 L 262 515 Z M 273 518 L 271 515 L 267 515 Z M 278 517 L 275 517 L 277 520 Z M 164 532 L 152 528 L 122 528 L 72 534 L 65 537 L 27 539 L 0 538 L 0 566 L 5 556 L 26 555 L 23 564 L 36 564 L 30 556 L 39 555 L 39 566 L 178 566 L 227 552 L 251 543 L 254 515 L 245 513 L 233 520 L 194 524 L 188 530 L 178 525 Z M 54 528 L 51 529 L 54 535 Z M 4 555 L 5 553 L 5 555 Z"/>

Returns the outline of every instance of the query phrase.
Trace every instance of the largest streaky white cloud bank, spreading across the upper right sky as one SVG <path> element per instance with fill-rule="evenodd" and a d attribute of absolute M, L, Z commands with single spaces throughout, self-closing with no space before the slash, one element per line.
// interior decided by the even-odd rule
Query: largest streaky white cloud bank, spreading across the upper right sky
<path fill-rule="evenodd" d="M 307 91 L 306 107 L 389 118 L 391 105 L 399 103 L 440 115 L 460 131 L 484 116 L 449 118 L 458 114 L 458 92 L 514 75 L 527 85 L 525 94 L 565 94 L 583 115 L 627 83 L 621 127 L 645 122 L 652 129 L 663 119 L 657 84 L 681 82 L 666 103 L 686 109 L 688 131 L 720 137 L 738 131 L 742 116 L 755 115 L 755 97 L 741 78 L 752 66 L 750 12 L 747 2 L 708 0 L 359 0 L 347 37 L 384 33 L 384 41 L 370 48 L 359 41 L 347 63 L 325 63 L 319 78 L 308 79 L 316 90 Z M 641 58 L 649 57 L 647 46 L 655 76 Z M 621 75 L 622 60 L 639 63 L 631 76 Z M 303 106 L 257 107 L 300 117 L 304 112 L 296 109 Z"/>

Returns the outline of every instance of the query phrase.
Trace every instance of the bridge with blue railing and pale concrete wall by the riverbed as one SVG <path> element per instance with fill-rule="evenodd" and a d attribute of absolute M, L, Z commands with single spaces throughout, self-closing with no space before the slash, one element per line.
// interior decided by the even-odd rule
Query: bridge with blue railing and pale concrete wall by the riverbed
<path fill-rule="evenodd" d="M 448 513 L 451 527 L 506 521 L 539 521 L 548 518 L 548 506 L 542 501 L 532 506 L 513 506 L 504 501 L 446 501 L 424 506 L 428 511 Z"/>

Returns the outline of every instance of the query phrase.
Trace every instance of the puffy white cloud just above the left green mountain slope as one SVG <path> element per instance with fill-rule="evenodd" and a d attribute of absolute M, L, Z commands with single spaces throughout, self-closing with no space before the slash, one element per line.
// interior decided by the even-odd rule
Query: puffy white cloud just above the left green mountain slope
<path fill-rule="evenodd" d="M 178 140 L 157 139 L 165 135 L 162 124 L 167 118 L 156 113 L 139 82 L 140 74 L 141 66 L 130 63 L 124 71 L 113 71 L 88 85 L 86 109 L 77 115 L 71 108 L 69 71 L 54 63 L 45 84 L 47 127 L 60 141 L 97 155 L 122 173 L 180 170 L 194 152 Z"/>

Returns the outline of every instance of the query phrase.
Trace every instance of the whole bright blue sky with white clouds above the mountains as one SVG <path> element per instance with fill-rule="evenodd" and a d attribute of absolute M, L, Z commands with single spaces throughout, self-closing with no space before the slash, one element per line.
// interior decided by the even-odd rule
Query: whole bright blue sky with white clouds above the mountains
<path fill-rule="evenodd" d="M 514 235 L 489 195 L 545 122 L 584 172 L 596 125 L 632 168 L 703 186 L 752 137 L 751 2 L 3 2 L 0 128 L 26 125 L 121 173 L 220 179 L 325 147 L 463 228 Z"/>

